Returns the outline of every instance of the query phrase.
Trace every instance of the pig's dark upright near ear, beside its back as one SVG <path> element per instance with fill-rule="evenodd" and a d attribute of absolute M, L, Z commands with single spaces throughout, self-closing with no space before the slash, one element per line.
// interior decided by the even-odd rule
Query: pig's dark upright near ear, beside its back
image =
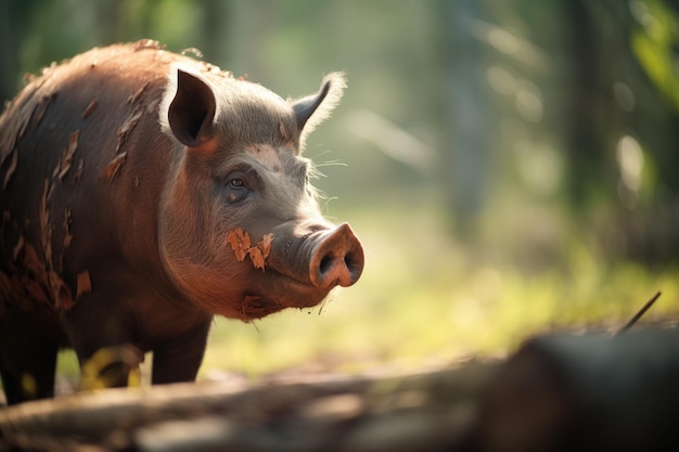
<path fill-rule="evenodd" d="M 213 89 L 198 76 L 177 68 L 161 107 L 161 122 L 182 144 L 196 147 L 213 133 L 217 102 Z"/>

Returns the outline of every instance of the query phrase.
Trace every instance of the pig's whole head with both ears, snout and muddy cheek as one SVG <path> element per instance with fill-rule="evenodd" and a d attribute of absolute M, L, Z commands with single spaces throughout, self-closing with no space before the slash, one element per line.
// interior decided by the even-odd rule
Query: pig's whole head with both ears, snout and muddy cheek
<path fill-rule="evenodd" d="M 225 74 L 174 68 L 161 107 L 175 143 L 158 242 L 181 292 L 209 312 L 251 320 L 319 304 L 349 286 L 363 250 L 320 214 L 302 157 L 305 137 L 342 96 L 332 74 L 317 94 L 285 101 Z"/>

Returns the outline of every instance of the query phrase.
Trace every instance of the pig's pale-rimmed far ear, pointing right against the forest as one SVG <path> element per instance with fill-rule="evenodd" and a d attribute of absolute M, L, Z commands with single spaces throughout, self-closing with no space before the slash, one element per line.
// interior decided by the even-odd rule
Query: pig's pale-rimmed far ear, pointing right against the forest
<path fill-rule="evenodd" d="M 340 103 L 346 81 L 344 74 L 332 73 L 323 78 L 318 93 L 293 101 L 293 109 L 297 118 L 299 142 L 304 145 L 306 137 L 316 126 L 326 119 Z"/>

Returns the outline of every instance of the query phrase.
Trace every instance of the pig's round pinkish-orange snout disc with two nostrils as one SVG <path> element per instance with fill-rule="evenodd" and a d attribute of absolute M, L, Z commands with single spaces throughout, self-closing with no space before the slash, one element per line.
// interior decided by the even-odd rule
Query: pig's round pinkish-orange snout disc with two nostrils
<path fill-rule="evenodd" d="M 319 288 L 348 287 L 363 271 L 363 247 L 348 223 L 319 233 L 309 261 L 309 279 Z"/>

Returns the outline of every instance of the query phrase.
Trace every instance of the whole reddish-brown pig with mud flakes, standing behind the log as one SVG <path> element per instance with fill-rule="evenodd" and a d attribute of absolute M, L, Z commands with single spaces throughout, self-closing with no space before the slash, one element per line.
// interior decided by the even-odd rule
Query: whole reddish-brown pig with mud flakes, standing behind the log
<path fill-rule="evenodd" d="M 148 351 L 152 384 L 194 380 L 214 315 L 247 322 L 356 283 L 361 243 L 323 218 L 302 156 L 344 88 L 333 73 L 283 100 L 151 40 L 30 79 L 0 117 L 8 403 L 53 397 L 60 348 L 82 373 L 99 363 L 105 387 Z"/>

